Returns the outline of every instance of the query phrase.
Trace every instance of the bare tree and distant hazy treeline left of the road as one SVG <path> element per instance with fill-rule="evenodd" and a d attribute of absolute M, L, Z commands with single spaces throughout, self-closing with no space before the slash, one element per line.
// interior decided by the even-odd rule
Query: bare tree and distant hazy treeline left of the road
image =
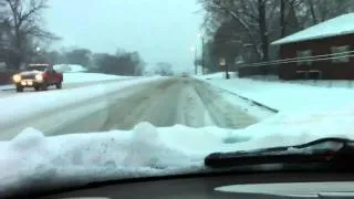
<path fill-rule="evenodd" d="M 0 0 L 0 65 L 18 71 L 27 63 L 80 64 L 93 72 L 142 75 L 144 61 L 137 52 L 93 53 L 87 49 L 49 51 L 60 36 L 43 29 L 48 0 Z"/>

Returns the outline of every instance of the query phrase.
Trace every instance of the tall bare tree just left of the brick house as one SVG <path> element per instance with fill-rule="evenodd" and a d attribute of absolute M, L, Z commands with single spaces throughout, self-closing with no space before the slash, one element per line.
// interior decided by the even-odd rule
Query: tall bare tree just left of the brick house
<path fill-rule="evenodd" d="M 249 38 L 259 60 L 269 60 L 270 24 L 275 17 L 275 0 L 199 0 L 204 8 L 225 21 L 233 20 L 241 25 L 240 30 Z"/>

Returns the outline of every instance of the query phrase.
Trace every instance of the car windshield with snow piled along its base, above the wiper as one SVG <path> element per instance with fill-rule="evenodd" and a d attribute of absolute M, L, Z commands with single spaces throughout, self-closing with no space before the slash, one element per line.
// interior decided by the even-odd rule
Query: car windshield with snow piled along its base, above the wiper
<path fill-rule="evenodd" d="M 199 174 L 212 153 L 351 139 L 353 9 L 0 0 L 0 193 L 32 177 Z M 17 74 L 42 63 L 53 72 Z"/>

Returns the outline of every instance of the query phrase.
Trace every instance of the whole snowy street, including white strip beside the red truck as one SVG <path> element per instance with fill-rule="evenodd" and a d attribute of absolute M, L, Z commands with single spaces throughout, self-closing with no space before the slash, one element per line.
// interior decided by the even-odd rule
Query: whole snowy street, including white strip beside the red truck
<path fill-rule="evenodd" d="M 8 107 L 15 103 L 17 106 L 1 113 L 8 118 L 1 121 L 0 138 L 13 138 L 27 127 L 49 136 L 127 130 L 142 122 L 157 127 L 180 124 L 235 129 L 256 124 L 260 117 L 272 114 L 261 107 L 250 113 L 247 106 L 236 104 L 241 103 L 238 96 L 230 101 L 222 94 L 221 90 L 206 82 L 184 77 L 111 80 L 98 85 L 69 84 L 63 91 L 15 95 L 14 91 L 6 91 L 3 95 L 7 97 L 0 103 L 8 103 Z M 29 98 L 31 101 L 27 102 Z"/>

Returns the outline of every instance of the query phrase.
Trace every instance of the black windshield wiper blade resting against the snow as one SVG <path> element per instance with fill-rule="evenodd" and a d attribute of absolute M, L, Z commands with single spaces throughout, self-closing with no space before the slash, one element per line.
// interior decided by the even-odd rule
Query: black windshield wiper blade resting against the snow
<path fill-rule="evenodd" d="M 348 161 L 354 161 L 354 140 L 332 137 L 295 146 L 214 153 L 205 158 L 205 165 L 209 168 L 266 164 L 340 164 Z"/>

